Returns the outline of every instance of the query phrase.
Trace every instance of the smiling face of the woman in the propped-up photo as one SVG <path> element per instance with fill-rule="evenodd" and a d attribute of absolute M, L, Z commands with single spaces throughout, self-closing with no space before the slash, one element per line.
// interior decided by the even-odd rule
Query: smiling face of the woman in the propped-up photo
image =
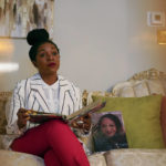
<path fill-rule="evenodd" d="M 114 136 L 116 133 L 116 126 L 115 126 L 114 121 L 107 117 L 104 117 L 101 123 L 101 131 L 104 135 L 108 137 Z"/>

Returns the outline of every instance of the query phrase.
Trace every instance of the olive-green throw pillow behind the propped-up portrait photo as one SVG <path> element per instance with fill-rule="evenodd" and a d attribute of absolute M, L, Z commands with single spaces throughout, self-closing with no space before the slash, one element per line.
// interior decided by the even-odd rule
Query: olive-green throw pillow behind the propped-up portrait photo
<path fill-rule="evenodd" d="M 160 128 L 162 95 L 143 97 L 105 97 L 106 105 L 100 112 L 122 111 L 128 146 L 131 148 L 164 148 Z"/>

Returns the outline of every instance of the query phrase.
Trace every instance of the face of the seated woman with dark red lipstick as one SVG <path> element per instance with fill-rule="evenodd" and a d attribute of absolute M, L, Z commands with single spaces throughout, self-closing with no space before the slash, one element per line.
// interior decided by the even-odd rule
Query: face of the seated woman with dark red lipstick
<path fill-rule="evenodd" d="M 56 74 L 60 68 L 60 54 L 52 43 L 39 46 L 33 64 L 41 75 Z"/>

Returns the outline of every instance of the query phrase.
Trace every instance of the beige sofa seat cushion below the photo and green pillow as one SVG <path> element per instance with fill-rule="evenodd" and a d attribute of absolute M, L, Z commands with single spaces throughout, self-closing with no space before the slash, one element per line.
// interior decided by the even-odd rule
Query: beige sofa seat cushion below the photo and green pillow
<path fill-rule="evenodd" d="M 107 166 L 165 166 L 166 149 L 126 148 L 104 154 Z"/>

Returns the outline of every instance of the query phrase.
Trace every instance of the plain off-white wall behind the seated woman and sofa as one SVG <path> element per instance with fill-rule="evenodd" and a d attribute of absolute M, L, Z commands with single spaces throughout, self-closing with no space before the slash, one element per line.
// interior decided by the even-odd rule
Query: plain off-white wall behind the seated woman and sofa
<path fill-rule="evenodd" d="M 60 73 L 82 90 L 105 91 L 149 68 L 166 71 L 166 45 L 157 44 L 157 28 L 147 27 L 147 11 L 166 13 L 166 1 L 55 0 L 53 40 L 61 50 Z M 0 91 L 35 72 L 24 39 L 3 41 L 14 50 L 0 61 L 19 62 L 20 70 L 0 74 Z"/>

